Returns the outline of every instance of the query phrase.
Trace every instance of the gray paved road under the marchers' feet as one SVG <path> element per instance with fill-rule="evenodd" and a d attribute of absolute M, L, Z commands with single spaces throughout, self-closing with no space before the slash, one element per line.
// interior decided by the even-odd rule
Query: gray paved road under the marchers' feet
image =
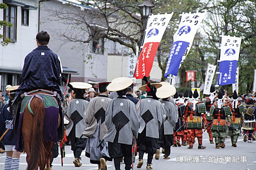
<path fill-rule="evenodd" d="M 242 137 L 238 138 L 237 148 L 231 146 L 230 138 L 226 139 L 226 148 L 215 149 L 214 144 L 210 144 L 208 134 L 203 135 L 204 150 L 197 149 L 196 141 L 192 150 L 186 146 L 172 147 L 170 160 L 164 160 L 163 154 L 159 160 L 153 159 L 153 170 L 256 170 L 256 141 L 253 143 L 243 142 Z M 60 154 L 59 154 L 60 155 Z M 146 170 L 146 158 L 144 155 L 144 164 L 141 170 Z M 183 159 L 182 159 L 183 158 Z M 0 154 L 0 170 L 4 169 L 5 154 Z M 177 159 L 180 162 L 177 162 Z M 89 159 L 82 153 L 82 166 L 75 168 L 74 160 L 70 146 L 66 146 L 66 157 L 64 166 L 60 165 L 60 156 L 54 159 L 53 170 L 98 170 L 98 166 L 90 164 Z M 182 162 L 183 161 L 183 162 Z M 190 162 L 190 163 L 189 163 Z M 199 162 L 199 163 L 198 163 Z M 138 156 L 134 165 L 138 163 Z M 107 162 L 108 170 L 114 170 L 113 162 Z M 248 169 L 247 169 L 248 168 Z M 21 155 L 20 170 L 26 169 L 26 154 Z M 124 170 L 124 164 L 121 163 L 121 169 Z"/>

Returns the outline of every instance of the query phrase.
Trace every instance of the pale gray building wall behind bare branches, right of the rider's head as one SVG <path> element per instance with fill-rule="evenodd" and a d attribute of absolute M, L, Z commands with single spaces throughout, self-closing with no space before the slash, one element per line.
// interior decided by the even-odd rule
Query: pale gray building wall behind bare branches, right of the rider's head
<path fill-rule="evenodd" d="M 103 55 L 90 53 L 90 43 L 65 42 L 60 33 L 72 34 L 74 30 L 71 29 L 71 26 L 46 19 L 49 15 L 48 8 L 56 9 L 57 11 L 64 8 L 66 11 L 72 10 L 72 12 L 76 12 L 75 8 L 77 7 L 56 1 L 41 3 L 40 30 L 46 30 L 50 34 L 51 38 L 48 46 L 60 56 L 62 65 L 78 71 L 79 75 L 72 75 L 71 81 L 106 81 L 107 51 Z M 54 18 L 54 16 L 52 17 Z M 86 37 L 86 35 L 84 36 Z M 106 44 L 104 48 L 106 48 Z M 91 55 L 92 58 L 88 59 L 87 55 Z"/>

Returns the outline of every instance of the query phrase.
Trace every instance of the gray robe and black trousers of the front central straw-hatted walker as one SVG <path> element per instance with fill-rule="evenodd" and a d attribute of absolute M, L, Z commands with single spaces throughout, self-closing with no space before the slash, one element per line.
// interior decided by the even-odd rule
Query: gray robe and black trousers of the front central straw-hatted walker
<path fill-rule="evenodd" d="M 118 97 L 108 103 L 105 124 L 108 132 L 104 140 L 109 144 L 112 158 L 131 156 L 132 138 L 138 134 L 139 117 L 135 104 L 126 97 Z M 122 146 L 127 146 L 127 152 Z"/>

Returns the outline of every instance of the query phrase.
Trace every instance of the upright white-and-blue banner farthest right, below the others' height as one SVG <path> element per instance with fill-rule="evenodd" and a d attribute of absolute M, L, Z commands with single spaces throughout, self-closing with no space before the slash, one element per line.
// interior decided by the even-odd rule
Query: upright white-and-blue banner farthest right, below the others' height
<path fill-rule="evenodd" d="M 228 85 L 236 82 L 236 67 L 241 40 L 241 37 L 222 36 L 218 85 Z"/>

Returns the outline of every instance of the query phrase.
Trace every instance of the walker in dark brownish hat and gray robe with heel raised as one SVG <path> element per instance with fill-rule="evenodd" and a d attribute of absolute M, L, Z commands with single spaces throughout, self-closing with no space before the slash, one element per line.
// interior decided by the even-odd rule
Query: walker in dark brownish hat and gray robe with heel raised
<path fill-rule="evenodd" d="M 84 130 L 83 135 L 88 137 L 86 144 L 85 156 L 90 158 L 90 163 L 98 164 L 99 170 L 106 170 L 106 160 L 112 161 L 108 154 L 108 143 L 100 141 L 108 131 L 105 123 L 105 115 L 108 103 L 111 99 L 108 97 L 109 91 L 107 86 L 110 82 L 103 82 L 94 85 L 98 88 L 100 95 L 93 98 L 87 105 L 85 110 L 85 122 L 87 128 Z M 98 147 L 98 145 L 100 146 Z"/>

